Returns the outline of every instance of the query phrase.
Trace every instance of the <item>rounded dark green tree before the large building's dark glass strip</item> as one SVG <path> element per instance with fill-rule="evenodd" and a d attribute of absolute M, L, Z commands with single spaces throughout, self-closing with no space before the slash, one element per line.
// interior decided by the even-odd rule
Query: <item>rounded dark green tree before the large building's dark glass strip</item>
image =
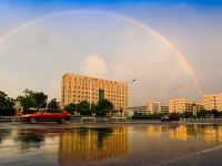
<path fill-rule="evenodd" d="M 98 103 L 98 115 L 105 115 L 108 112 L 112 111 L 114 105 L 109 100 L 104 98 Z"/>

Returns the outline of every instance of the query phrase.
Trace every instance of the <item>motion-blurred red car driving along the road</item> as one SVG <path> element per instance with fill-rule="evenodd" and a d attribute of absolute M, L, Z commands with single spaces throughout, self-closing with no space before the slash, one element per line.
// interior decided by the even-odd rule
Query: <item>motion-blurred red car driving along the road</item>
<path fill-rule="evenodd" d="M 58 122 L 63 123 L 65 121 L 70 121 L 71 115 L 65 111 L 59 111 L 59 110 L 47 110 L 47 111 L 40 111 L 32 114 L 26 114 L 21 116 L 21 120 L 23 122 Z"/>

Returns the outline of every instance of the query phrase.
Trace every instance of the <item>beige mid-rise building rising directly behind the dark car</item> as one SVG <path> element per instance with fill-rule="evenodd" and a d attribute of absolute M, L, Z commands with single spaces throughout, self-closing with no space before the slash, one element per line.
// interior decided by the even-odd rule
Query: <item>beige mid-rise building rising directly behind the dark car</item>
<path fill-rule="evenodd" d="M 169 100 L 169 112 L 170 113 L 192 112 L 192 103 L 189 102 L 186 98 Z"/>

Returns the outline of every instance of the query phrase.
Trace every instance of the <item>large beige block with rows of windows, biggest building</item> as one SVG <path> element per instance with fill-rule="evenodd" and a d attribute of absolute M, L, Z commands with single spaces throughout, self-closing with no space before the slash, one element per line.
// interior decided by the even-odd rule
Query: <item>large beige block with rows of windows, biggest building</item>
<path fill-rule="evenodd" d="M 88 101 L 98 103 L 102 98 L 111 101 L 115 110 L 127 112 L 128 83 L 95 79 L 78 74 L 63 74 L 61 87 L 62 105 Z"/>

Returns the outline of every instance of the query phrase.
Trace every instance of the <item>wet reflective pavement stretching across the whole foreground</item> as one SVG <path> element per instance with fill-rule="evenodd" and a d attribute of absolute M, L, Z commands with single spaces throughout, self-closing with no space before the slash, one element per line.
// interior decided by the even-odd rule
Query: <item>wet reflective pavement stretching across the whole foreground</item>
<path fill-rule="evenodd" d="M 0 165 L 222 165 L 222 125 L 0 124 Z"/>

